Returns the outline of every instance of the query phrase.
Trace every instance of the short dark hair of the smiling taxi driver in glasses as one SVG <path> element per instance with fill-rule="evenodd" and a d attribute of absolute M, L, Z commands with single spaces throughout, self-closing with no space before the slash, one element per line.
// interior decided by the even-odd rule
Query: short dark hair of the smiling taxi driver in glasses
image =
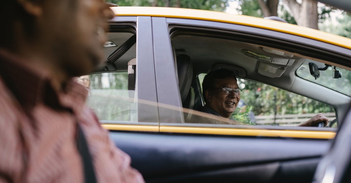
<path fill-rule="evenodd" d="M 236 81 L 238 81 L 235 73 L 228 69 L 213 70 L 205 76 L 204 81 L 202 82 L 202 93 L 204 95 L 204 100 L 206 103 L 207 99 L 205 97 L 205 91 L 210 90 L 214 87 L 216 79 L 224 79 L 229 77 L 233 77 Z"/>

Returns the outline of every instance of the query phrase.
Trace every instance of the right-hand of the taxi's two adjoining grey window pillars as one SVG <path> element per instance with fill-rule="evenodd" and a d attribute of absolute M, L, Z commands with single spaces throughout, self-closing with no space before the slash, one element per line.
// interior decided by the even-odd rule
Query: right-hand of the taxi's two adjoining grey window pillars
<path fill-rule="evenodd" d="M 152 34 L 160 123 L 184 123 L 178 77 L 166 18 L 152 18 Z"/>

